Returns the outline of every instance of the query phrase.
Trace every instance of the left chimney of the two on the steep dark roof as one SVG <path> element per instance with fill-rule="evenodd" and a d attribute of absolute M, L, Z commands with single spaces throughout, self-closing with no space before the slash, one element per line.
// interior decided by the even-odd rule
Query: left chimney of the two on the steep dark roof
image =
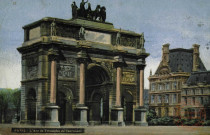
<path fill-rule="evenodd" d="M 168 66 L 169 62 L 169 46 L 170 44 L 164 44 L 162 47 L 162 64 L 163 66 Z"/>

